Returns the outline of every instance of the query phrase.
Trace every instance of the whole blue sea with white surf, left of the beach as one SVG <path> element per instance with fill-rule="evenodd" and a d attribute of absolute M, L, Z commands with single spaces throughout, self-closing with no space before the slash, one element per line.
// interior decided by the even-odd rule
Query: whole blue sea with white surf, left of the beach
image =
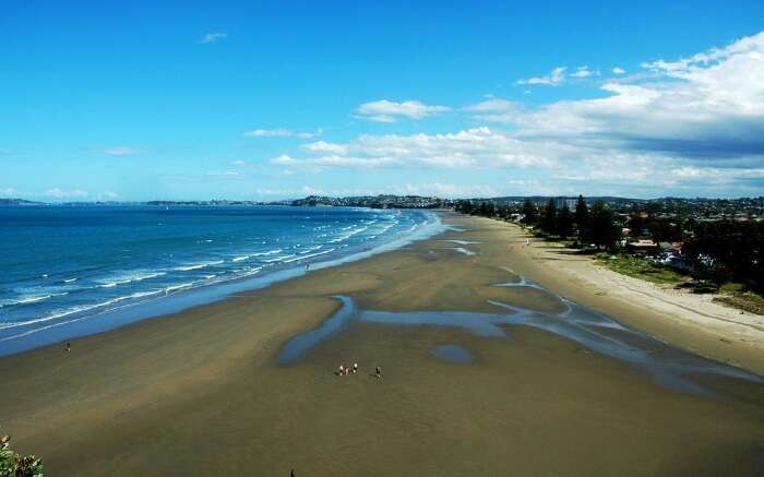
<path fill-rule="evenodd" d="M 0 355 L 180 311 L 437 232 L 427 211 L 0 207 Z"/>

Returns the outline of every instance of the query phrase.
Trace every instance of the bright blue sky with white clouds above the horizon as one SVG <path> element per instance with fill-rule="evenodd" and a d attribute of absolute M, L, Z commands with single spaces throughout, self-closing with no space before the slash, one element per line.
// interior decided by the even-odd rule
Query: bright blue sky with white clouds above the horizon
<path fill-rule="evenodd" d="M 764 194 L 762 1 L 8 1 L 0 198 Z"/>

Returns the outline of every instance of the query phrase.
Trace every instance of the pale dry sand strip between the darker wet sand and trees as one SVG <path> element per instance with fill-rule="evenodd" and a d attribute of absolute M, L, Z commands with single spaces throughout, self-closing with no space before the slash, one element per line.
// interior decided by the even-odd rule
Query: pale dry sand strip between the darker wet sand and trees
<path fill-rule="evenodd" d="M 675 346 L 764 374 L 764 317 L 597 266 L 558 242 L 505 226 L 517 273 Z"/>

